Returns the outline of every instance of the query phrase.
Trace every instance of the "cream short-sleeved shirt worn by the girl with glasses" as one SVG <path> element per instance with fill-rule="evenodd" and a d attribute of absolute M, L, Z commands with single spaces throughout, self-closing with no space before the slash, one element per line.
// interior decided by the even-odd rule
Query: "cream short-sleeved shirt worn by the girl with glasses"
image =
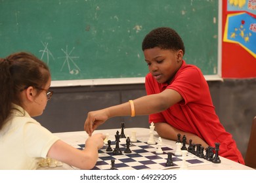
<path fill-rule="evenodd" d="M 58 141 L 48 129 L 14 105 L 12 115 L 0 131 L 0 169 L 36 169 Z"/>

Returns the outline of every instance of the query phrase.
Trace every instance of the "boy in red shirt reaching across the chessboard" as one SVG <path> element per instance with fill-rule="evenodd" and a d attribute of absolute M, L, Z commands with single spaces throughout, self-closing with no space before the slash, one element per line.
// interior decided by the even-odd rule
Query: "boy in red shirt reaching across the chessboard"
<path fill-rule="evenodd" d="M 166 139 L 177 140 L 177 134 L 194 144 L 221 144 L 219 155 L 244 164 L 232 135 L 226 132 L 215 114 L 209 87 L 202 72 L 182 59 L 184 44 L 177 32 L 159 27 L 142 42 L 147 95 L 121 105 L 88 113 L 85 131 L 91 135 L 98 125 L 115 116 L 147 115 L 155 130 Z"/>

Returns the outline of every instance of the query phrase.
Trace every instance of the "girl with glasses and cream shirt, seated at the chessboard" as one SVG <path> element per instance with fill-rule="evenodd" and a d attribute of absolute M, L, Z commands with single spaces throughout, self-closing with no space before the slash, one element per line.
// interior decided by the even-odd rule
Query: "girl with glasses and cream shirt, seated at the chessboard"
<path fill-rule="evenodd" d="M 105 135 L 89 137 L 84 150 L 61 141 L 33 116 L 43 114 L 53 92 L 47 65 L 32 54 L 0 58 L 0 169 L 37 169 L 53 158 L 79 169 L 92 169 Z"/>

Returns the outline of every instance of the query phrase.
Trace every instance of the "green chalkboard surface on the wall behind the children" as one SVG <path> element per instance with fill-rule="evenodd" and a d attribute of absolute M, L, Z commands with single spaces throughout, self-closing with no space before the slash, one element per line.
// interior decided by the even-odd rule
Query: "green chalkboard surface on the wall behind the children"
<path fill-rule="evenodd" d="M 146 33 L 173 27 L 187 63 L 217 74 L 218 0 L 1 0 L 0 57 L 28 51 L 53 80 L 144 77 Z"/>

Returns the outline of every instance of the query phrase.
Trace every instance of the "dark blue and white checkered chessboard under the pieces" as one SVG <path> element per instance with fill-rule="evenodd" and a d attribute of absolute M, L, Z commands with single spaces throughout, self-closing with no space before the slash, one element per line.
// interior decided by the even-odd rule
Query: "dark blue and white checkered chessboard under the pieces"
<path fill-rule="evenodd" d="M 116 142 L 111 141 L 111 146 L 114 149 Z M 142 169 L 173 169 L 181 168 L 182 166 L 182 156 L 175 156 L 175 148 L 168 146 L 167 144 L 162 144 L 161 149 L 162 154 L 157 154 L 158 144 L 148 144 L 147 139 L 137 139 L 137 142 L 131 142 L 130 149 L 131 153 L 126 154 L 125 150 L 125 139 L 120 139 L 119 147 L 122 152 L 121 155 L 113 155 L 113 152 L 107 152 L 106 149 L 108 145 L 104 145 L 100 150 L 98 150 L 98 161 L 96 162 L 93 170 L 110 170 L 112 167 L 111 161 L 115 159 L 114 167 L 117 170 L 142 170 Z M 82 150 L 85 144 L 77 144 L 76 148 Z M 167 153 L 173 153 L 172 160 L 173 166 L 167 167 L 165 163 L 167 162 Z M 188 152 L 186 156 L 186 166 L 200 166 L 209 165 L 211 161 L 199 158 L 194 154 Z"/>

